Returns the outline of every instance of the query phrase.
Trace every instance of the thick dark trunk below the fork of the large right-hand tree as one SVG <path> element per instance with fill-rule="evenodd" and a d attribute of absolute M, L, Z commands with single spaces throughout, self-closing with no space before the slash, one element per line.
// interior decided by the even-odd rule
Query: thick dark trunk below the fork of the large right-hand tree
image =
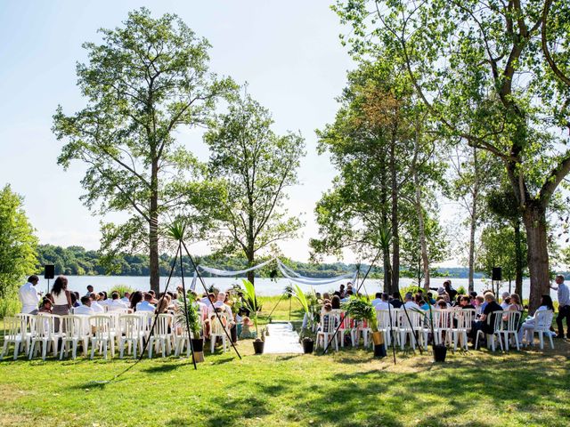
<path fill-rule="evenodd" d="M 550 269 L 546 209 L 539 203 L 529 202 L 523 212 L 528 245 L 528 271 L 531 278 L 529 313 L 541 304 L 542 294 L 550 293 Z"/>

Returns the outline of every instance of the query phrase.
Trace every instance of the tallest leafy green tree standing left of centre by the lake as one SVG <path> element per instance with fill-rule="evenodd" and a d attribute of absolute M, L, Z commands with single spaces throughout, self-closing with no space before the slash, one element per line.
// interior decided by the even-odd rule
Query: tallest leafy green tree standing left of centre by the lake
<path fill-rule="evenodd" d="M 85 163 L 82 200 L 95 213 L 128 216 L 102 226 L 102 250 L 111 259 L 121 250 L 148 251 L 158 291 L 165 215 L 178 208 L 194 222 L 202 204 L 216 198 L 175 132 L 206 123 L 232 82 L 208 72 L 208 41 L 175 15 L 154 19 L 142 8 L 123 27 L 101 33 L 101 44 L 83 44 L 88 61 L 77 64 L 86 107 L 66 116 L 60 106 L 53 117 L 53 132 L 67 141 L 58 163 Z"/>

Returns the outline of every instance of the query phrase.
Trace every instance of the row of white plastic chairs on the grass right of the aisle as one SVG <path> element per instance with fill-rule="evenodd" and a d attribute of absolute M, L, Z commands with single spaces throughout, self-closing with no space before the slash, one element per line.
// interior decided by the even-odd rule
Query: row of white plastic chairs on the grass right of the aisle
<path fill-rule="evenodd" d="M 554 348 L 552 337 L 548 334 L 550 324 L 552 322 L 552 311 L 539 311 L 536 313 L 536 326 L 532 331 L 528 331 L 531 335 L 530 341 L 533 341 L 533 334 L 539 335 L 541 349 L 543 349 L 543 335 L 550 337 L 550 346 Z M 384 333 L 387 345 L 391 345 L 393 339 L 395 344 L 400 345 L 404 349 L 406 342 L 411 343 L 411 347 L 415 350 L 416 344 L 428 349 L 428 336 L 434 335 L 436 343 L 444 343 L 453 345 L 453 350 L 460 347 L 468 350 L 468 334 L 471 331 L 474 320 L 476 319 L 476 310 L 473 309 L 446 309 L 431 310 L 433 318 L 430 322 L 430 312 L 422 310 L 377 310 L 377 321 L 379 331 Z M 509 350 L 509 342 L 513 342 L 520 350 L 520 342 L 518 342 L 518 328 L 520 326 L 522 313 L 520 311 L 496 311 L 487 317 L 486 322 L 489 326 L 493 326 L 493 334 L 487 335 L 487 347 L 493 351 L 496 348 L 495 343 L 498 341 L 501 350 Z M 493 325 L 491 325 L 493 322 Z M 337 333 L 337 327 L 338 325 Z M 336 333 L 336 335 L 335 335 Z M 363 344 L 368 347 L 369 334 L 371 329 L 364 322 L 355 322 L 346 316 L 343 310 L 332 310 L 322 313 L 321 321 L 318 326 L 317 347 L 326 345 L 334 345 L 338 350 L 338 342 L 344 347 L 345 334 L 350 334 L 353 347 L 358 345 L 362 336 Z M 476 334 L 476 345 L 479 337 L 485 335 L 481 330 Z M 333 338 L 334 337 L 334 338 Z M 418 342 L 416 342 L 418 340 Z M 504 343 L 504 346 L 503 346 Z"/>

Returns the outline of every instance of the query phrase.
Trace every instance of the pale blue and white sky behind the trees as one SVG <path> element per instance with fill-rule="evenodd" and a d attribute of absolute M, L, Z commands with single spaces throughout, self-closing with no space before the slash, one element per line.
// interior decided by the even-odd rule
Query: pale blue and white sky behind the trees
<path fill-rule="evenodd" d="M 354 68 L 338 39 L 347 29 L 327 0 L 0 0 L 0 185 L 10 183 L 25 197 L 41 243 L 99 247 L 102 218 L 79 200 L 85 166 L 74 163 L 65 172 L 57 165 L 62 142 L 51 132 L 52 116 L 58 104 L 68 114 L 85 106 L 75 74 L 77 61 L 85 60 L 81 44 L 98 42 L 98 28 L 120 26 L 127 12 L 141 6 L 154 16 L 178 14 L 213 45 L 212 71 L 248 82 L 248 93 L 272 111 L 275 132 L 300 131 L 305 137 L 301 185 L 289 190 L 287 204 L 305 227 L 299 238 L 279 246 L 283 254 L 306 261 L 308 240 L 318 235 L 314 205 L 335 175 L 328 158 L 316 154 L 314 130 L 334 119 L 335 97 L 346 84 L 346 71 Z M 208 157 L 200 133 L 178 138 L 199 158 Z M 205 254 L 208 246 L 191 250 Z M 344 261 L 356 258 L 347 253 Z"/>

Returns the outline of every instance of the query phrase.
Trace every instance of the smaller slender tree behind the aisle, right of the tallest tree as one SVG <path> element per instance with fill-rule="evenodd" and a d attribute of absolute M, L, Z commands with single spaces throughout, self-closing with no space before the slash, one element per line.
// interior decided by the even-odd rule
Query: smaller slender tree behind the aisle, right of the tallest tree
<path fill-rule="evenodd" d="M 256 254 L 295 237 L 302 225 L 288 216 L 286 191 L 297 184 L 305 141 L 297 133 L 278 135 L 272 125 L 269 111 L 244 94 L 210 122 L 204 136 L 210 174 L 224 181 L 227 190 L 218 206 L 222 218 L 213 242 L 225 253 L 242 252 L 250 266 Z M 253 283 L 253 272 L 248 279 Z"/>

